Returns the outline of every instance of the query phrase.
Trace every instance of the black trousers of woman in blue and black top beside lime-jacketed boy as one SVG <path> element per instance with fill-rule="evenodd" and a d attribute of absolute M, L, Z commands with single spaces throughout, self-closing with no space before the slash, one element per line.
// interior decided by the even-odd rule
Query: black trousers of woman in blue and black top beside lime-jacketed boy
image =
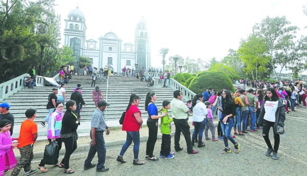
<path fill-rule="evenodd" d="M 157 141 L 157 134 L 158 134 L 158 126 L 156 122 L 147 121 L 148 127 L 148 140 L 146 144 L 146 155 L 149 155 L 149 158 L 153 157 L 153 149 L 154 145 Z"/>

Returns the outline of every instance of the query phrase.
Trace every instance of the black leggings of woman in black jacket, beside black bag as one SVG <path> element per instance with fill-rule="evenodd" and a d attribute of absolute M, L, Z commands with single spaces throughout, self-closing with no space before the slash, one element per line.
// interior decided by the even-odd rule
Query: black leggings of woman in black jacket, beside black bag
<path fill-rule="evenodd" d="M 77 138 L 76 135 L 69 138 L 62 138 L 62 141 L 65 144 L 65 155 L 61 162 L 64 165 L 65 169 L 69 168 L 69 159 L 72 152 L 74 152 L 77 148 Z"/>

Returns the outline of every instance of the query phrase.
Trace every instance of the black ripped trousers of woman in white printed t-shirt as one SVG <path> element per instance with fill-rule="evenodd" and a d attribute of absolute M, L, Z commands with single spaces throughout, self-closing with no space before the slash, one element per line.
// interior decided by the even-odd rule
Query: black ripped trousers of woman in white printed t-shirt
<path fill-rule="evenodd" d="M 270 128 L 273 127 L 274 151 L 277 153 L 278 147 L 279 147 L 279 142 L 280 142 L 280 136 L 279 136 L 279 134 L 275 134 L 274 124 L 275 124 L 275 122 L 270 122 L 270 121 L 267 121 L 266 119 L 263 119 L 262 136 L 263 136 L 263 139 L 266 141 L 266 145 L 268 146 L 268 148 L 273 149 L 271 141 L 269 139 Z"/>

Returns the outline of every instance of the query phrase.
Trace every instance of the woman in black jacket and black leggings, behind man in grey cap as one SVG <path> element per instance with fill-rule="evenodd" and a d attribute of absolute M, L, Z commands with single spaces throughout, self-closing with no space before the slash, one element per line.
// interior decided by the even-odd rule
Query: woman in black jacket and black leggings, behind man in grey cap
<path fill-rule="evenodd" d="M 69 100 L 66 103 L 67 110 L 62 119 L 61 138 L 65 144 L 65 155 L 59 167 L 64 168 L 65 174 L 72 174 L 75 172 L 69 168 L 69 158 L 72 152 L 77 148 L 76 130 L 80 125 L 80 120 L 78 115 L 74 113 L 76 108 L 76 102 L 74 100 Z"/>

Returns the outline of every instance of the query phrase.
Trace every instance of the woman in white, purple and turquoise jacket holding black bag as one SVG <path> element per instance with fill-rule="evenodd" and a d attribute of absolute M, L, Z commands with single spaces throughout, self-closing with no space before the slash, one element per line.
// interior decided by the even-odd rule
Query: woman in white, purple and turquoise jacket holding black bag
<path fill-rule="evenodd" d="M 56 151 L 56 160 L 59 158 L 59 152 L 62 148 L 62 138 L 61 138 L 60 132 L 62 128 L 62 119 L 64 116 L 63 108 L 64 108 L 64 105 L 62 102 L 60 101 L 56 102 L 54 111 L 48 117 L 47 138 L 48 138 L 49 143 L 53 141 L 57 142 L 58 149 Z M 41 160 L 41 163 L 38 166 L 42 172 L 47 172 L 43 159 Z M 56 161 L 55 166 L 59 166 L 58 161 Z"/>

